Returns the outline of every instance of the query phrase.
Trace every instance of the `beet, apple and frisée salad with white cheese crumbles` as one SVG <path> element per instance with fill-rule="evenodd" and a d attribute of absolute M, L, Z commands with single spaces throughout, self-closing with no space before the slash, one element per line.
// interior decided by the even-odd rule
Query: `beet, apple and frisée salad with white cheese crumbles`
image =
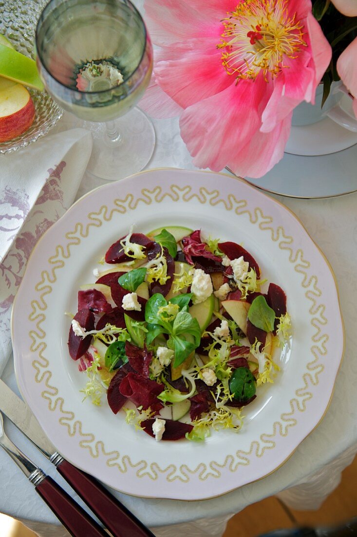
<path fill-rule="evenodd" d="M 130 229 L 99 266 L 69 329 L 84 398 L 157 441 L 239 431 L 290 345 L 281 287 L 242 245 L 183 227 Z"/>

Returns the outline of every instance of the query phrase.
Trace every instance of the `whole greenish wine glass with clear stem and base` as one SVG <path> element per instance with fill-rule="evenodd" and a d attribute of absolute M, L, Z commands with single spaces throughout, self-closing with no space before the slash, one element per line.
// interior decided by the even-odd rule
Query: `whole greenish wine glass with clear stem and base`
<path fill-rule="evenodd" d="M 134 106 L 150 82 L 153 52 L 135 6 L 129 0 L 50 0 L 35 46 L 51 97 L 92 130 L 88 169 L 110 180 L 142 170 L 155 133 Z"/>

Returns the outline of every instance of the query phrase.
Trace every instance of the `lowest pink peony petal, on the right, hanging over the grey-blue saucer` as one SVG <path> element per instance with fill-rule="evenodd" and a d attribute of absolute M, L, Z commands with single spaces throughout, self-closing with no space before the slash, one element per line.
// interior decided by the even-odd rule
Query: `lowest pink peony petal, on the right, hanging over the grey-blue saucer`
<path fill-rule="evenodd" d="M 257 131 L 246 146 L 239 148 L 227 161 L 228 167 L 239 176 L 262 177 L 284 155 L 291 128 L 292 112 L 271 132 Z"/>

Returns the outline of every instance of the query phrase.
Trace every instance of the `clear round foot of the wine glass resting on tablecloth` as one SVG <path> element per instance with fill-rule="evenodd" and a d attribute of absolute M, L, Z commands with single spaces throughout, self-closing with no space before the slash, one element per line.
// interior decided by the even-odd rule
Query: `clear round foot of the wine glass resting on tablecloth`
<path fill-rule="evenodd" d="M 93 135 L 93 150 L 87 170 L 96 177 L 116 181 L 137 173 L 150 161 L 155 147 L 155 131 L 139 108 L 114 121 L 120 138 L 111 141 L 105 123 L 86 123 Z"/>

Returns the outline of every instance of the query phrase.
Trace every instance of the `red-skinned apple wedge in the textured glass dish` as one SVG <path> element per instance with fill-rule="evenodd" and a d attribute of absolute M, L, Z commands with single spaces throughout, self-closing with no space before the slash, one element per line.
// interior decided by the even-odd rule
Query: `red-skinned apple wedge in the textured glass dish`
<path fill-rule="evenodd" d="M 26 88 L 0 79 L 0 142 L 23 134 L 32 125 L 34 117 L 35 107 Z"/>

